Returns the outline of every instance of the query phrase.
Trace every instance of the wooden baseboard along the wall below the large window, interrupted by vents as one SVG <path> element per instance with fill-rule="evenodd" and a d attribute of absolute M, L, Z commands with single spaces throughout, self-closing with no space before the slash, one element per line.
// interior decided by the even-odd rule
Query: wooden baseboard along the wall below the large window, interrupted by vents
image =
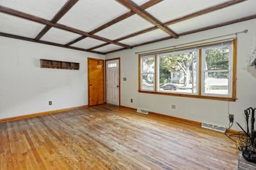
<path fill-rule="evenodd" d="M 120 107 L 121 108 L 130 109 L 130 110 L 133 110 L 133 111 L 137 110 L 136 108 L 130 108 L 130 107 L 127 107 L 127 106 L 120 106 Z M 185 123 L 185 124 L 189 124 L 189 125 L 195 125 L 196 127 L 201 127 L 202 128 L 202 122 L 196 122 L 194 120 L 188 120 L 188 119 L 185 119 L 185 118 L 172 117 L 170 115 L 163 115 L 161 113 L 155 113 L 155 112 L 152 112 L 152 111 L 149 111 L 148 114 L 150 114 L 150 115 L 158 115 L 160 117 L 171 118 L 172 120 L 176 120 L 176 121 L 179 121 L 179 122 L 182 122 L 182 123 Z M 228 131 L 228 133 L 232 133 L 232 134 L 237 134 L 238 132 L 239 131 L 234 130 L 234 129 L 230 129 Z"/>

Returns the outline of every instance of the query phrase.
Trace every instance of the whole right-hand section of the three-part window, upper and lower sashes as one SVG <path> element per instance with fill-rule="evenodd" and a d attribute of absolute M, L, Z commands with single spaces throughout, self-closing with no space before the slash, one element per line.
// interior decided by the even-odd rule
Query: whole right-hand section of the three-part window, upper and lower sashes
<path fill-rule="evenodd" d="M 203 50 L 204 94 L 230 96 L 231 73 L 231 45 Z"/>

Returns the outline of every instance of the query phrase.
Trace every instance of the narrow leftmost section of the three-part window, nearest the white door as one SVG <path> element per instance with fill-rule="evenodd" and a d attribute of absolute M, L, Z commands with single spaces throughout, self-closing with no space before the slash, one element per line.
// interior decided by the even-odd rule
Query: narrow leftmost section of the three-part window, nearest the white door
<path fill-rule="evenodd" d="M 141 57 L 141 89 L 154 90 L 155 57 Z"/>

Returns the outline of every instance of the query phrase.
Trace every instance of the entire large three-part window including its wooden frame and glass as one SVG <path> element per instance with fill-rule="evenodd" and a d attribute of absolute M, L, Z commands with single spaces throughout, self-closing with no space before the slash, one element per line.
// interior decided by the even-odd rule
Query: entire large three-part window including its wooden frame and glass
<path fill-rule="evenodd" d="M 139 92 L 236 101 L 236 41 L 140 55 Z"/>

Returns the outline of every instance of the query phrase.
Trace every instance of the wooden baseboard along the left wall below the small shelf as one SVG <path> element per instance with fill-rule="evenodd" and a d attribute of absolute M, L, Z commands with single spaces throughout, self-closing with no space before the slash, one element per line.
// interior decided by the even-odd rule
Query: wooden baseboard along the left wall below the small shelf
<path fill-rule="evenodd" d="M 44 111 L 44 112 L 40 112 L 40 113 L 33 113 L 33 114 L 22 115 L 22 116 L 18 116 L 18 117 L 2 118 L 2 119 L 0 119 L 0 123 L 18 120 L 18 119 L 22 119 L 22 118 L 38 117 L 38 116 L 48 115 L 48 114 L 52 114 L 52 113 L 60 113 L 62 111 L 77 110 L 77 109 L 82 109 L 82 108 L 88 108 L 88 105 L 76 106 L 76 107 L 65 108 L 65 109 L 60 109 L 60 110 Z"/>

